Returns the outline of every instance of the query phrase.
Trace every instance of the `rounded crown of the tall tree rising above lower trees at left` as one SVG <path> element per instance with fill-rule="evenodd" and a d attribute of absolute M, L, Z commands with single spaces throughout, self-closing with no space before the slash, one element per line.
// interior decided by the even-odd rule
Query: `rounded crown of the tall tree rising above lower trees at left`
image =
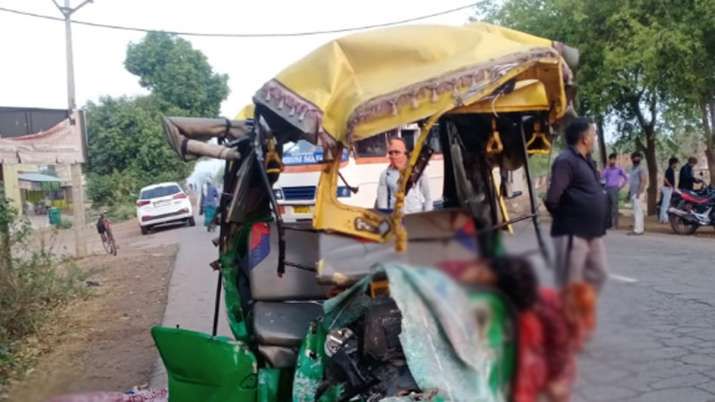
<path fill-rule="evenodd" d="M 229 93 L 228 75 L 215 73 L 190 42 L 164 32 L 130 44 L 124 65 L 157 100 L 191 116 L 218 116 Z"/>

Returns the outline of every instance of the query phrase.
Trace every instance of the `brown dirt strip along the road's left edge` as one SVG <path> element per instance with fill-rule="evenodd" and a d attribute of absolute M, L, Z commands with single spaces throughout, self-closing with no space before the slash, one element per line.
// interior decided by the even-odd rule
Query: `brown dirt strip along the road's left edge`
<path fill-rule="evenodd" d="M 149 330 L 162 321 L 177 246 L 133 246 L 142 243 L 133 222 L 115 225 L 114 233 L 119 255 L 78 261 L 90 274 L 90 295 L 56 312 L 28 340 L 41 355 L 24 379 L 11 384 L 6 400 L 44 402 L 66 393 L 126 391 L 149 381 L 158 357 Z M 98 253 L 94 237 L 90 252 Z"/>

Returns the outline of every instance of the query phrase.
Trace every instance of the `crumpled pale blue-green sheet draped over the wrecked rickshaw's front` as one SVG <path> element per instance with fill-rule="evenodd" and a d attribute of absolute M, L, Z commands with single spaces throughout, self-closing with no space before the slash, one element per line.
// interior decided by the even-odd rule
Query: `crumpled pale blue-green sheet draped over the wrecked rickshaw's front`
<path fill-rule="evenodd" d="M 503 354 L 480 328 L 467 292 L 434 268 L 402 264 L 378 266 L 349 290 L 324 304 L 327 330 L 343 328 L 365 314 L 371 299 L 368 287 L 384 272 L 390 297 L 402 313 L 400 342 L 420 389 L 433 400 L 505 402 L 504 384 L 495 386 L 495 370 Z M 410 396 L 383 401 L 407 402 Z"/>

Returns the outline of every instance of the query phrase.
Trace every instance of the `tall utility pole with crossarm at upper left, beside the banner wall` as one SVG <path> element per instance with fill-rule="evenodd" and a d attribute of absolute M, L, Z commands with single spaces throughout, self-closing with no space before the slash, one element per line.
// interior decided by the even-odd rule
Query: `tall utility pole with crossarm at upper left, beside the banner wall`
<path fill-rule="evenodd" d="M 65 18 L 65 48 L 67 56 L 67 109 L 69 112 L 70 124 L 78 124 L 74 119 L 74 112 L 77 109 L 77 101 L 75 99 L 74 89 L 74 60 L 72 55 L 72 14 L 84 7 L 87 3 L 92 3 L 93 0 L 85 0 L 75 8 L 70 6 L 70 0 L 64 0 L 64 7 L 57 3 L 57 0 L 52 0 L 55 6 Z M 72 176 L 72 212 L 74 216 L 74 240 L 75 240 L 75 256 L 84 257 L 87 255 L 87 244 L 82 239 L 82 229 L 85 226 L 84 216 L 84 191 L 82 189 L 82 165 L 73 163 L 70 167 Z"/>

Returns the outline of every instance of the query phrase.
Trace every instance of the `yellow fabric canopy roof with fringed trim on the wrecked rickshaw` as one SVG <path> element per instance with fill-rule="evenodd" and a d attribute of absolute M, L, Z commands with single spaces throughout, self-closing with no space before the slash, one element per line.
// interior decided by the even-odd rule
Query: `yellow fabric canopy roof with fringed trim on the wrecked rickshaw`
<path fill-rule="evenodd" d="M 567 107 L 568 67 L 552 45 L 486 23 L 373 30 L 316 49 L 254 102 L 323 141 L 350 143 L 473 104 L 512 79 L 533 79 L 555 120 Z"/>

